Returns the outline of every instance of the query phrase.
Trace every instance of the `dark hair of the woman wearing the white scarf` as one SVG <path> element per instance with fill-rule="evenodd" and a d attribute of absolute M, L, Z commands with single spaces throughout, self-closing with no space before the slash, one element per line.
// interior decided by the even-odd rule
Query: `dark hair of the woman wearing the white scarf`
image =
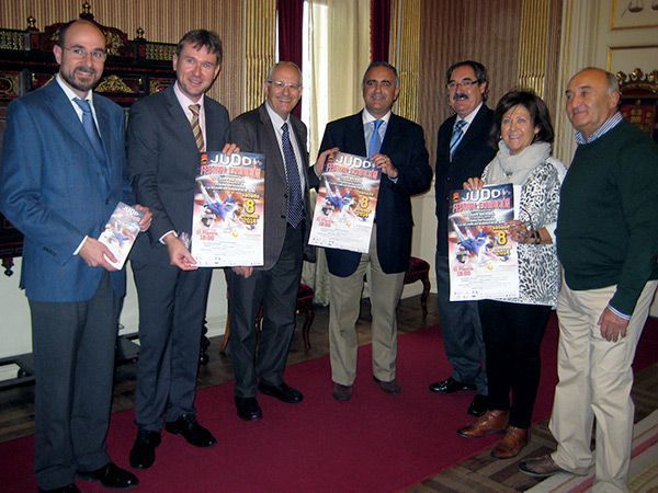
<path fill-rule="evenodd" d="M 494 112 L 494 127 L 491 127 L 491 141 L 497 145 L 500 139 L 500 126 L 503 115 L 514 106 L 523 106 L 530 113 L 533 127 L 540 131 L 534 136 L 533 142 L 553 144 L 555 131 L 551 123 L 551 114 L 544 100 L 530 89 L 512 90 L 504 94 Z"/>

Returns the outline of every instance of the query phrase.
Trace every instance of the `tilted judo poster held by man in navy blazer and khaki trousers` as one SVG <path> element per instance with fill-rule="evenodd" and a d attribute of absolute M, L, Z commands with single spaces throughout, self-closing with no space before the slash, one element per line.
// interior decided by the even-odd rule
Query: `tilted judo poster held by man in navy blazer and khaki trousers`
<path fill-rule="evenodd" d="M 337 152 L 327 160 L 308 242 L 367 253 L 381 176 L 367 158 Z"/>

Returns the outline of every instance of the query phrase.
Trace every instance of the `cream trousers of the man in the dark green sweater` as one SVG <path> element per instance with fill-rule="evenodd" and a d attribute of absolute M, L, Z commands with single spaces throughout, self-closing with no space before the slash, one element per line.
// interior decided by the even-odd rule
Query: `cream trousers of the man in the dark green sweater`
<path fill-rule="evenodd" d="M 592 491 L 627 491 L 635 410 L 631 365 L 656 285 L 656 280 L 645 285 L 626 336 L 615 343 L 601 336 L 598 321 L 616 286 L 576 291 L 563 283 L 557 301 L 559 382 L 549 423 L 558 446 L 552 457 L 559 467 L 576 474 L 585 474 L 595 463 Z"/>

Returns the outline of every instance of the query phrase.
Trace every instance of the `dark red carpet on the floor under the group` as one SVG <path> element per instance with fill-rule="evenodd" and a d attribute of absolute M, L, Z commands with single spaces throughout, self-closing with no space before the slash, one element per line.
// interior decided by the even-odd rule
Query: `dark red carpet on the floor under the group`
<path fill-rule="evenodd" d="M 556 382 L 557 328 L 551 319 L 543 344 L 542 387 L 535 421 L 548 417 Z M 658 354 L 658 322 L 639 343 L 636 367 Z M 306 399 L 297 405 L 260 397 L 264 419 L 246 423 L 235 414 L 232 385 L 198 392 L 200 421 L 218 437 L 212 449 L 196 449 L 162 434 L 155 466 L 137 471 L 143 492 L 393 492 L 434 475 L 491 445 L 496 437 L 465 439 L 455 429 L 468 422 L 473 392 L 436 395 L 428 383 L 449 374 L 439 331 L 424 329 L 399 337 L 398 379 L 402 393 L 384 394 L 373 382 L 371 348 L 359 352 L 352 401 L 331 398 L 329 359 L 294 365 L 286 380 Z M 112 417 L 109 447 L 127 466 L 135 436 L 133 411 Z M 33 437 L 0 444 L 0 490 L 32 492 Z M 83 491 L 104 491 L 78 481 Z"/>

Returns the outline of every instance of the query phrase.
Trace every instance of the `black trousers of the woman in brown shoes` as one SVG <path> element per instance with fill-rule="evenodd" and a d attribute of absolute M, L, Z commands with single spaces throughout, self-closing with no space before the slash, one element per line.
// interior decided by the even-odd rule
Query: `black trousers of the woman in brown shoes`
<path fill-rule="evenodd" d="M 489 409 L 509 410 L 510 425 L 527 428 L 540 385 L 540 348 L 551 307 L 481 300 L 478 308 Z"/>

